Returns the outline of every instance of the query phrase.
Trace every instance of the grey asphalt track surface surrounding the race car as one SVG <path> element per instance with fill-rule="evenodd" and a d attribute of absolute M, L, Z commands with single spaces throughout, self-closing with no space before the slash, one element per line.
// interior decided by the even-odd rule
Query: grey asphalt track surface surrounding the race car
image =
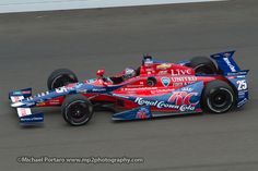
<path fill-rule="evenodd" d="M 258 170 L 258 1 L 172 4 L 0 15 L 1 170 Z M 22 127 L 8 93 L 46 90 L 48 74 L 69 68 L 80 80 L 161 60 L 237 50 L 249 69 L 250 101 L 226 114 L 113 122 L 96 112 L 81 127 L 64 123 L 59 108 L 44 109 L 45 124 Z M 143 157 L 144 163 L 17 163 L 20 156 Z"/>

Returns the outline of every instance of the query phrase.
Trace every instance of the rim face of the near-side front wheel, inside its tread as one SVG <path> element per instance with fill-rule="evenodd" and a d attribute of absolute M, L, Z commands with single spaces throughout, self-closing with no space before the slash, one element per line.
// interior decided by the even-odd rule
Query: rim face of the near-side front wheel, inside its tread
<path fill-rule="evenodd" d="M 89 106 L 85 101 L 73 101 L 67 107 L 67 117 L 74 124 L 86 122 L 90 117 Z"/>

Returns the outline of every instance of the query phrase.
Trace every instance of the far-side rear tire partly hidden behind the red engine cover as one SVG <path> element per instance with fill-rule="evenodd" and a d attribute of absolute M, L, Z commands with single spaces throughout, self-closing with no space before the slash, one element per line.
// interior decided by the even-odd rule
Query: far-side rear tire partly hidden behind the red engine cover
<path fill-rule="evenodd" d="M 208 57 L 195 57 L 190 60 L 189 65 L 197 74 L 215 74 L 218 72 L 216 65 Z"/>

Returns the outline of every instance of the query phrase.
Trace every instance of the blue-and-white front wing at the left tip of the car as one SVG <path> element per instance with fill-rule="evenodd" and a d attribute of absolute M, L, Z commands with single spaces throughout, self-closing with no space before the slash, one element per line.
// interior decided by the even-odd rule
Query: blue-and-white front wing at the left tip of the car
<path fill-rule="evenodd" d="M 12 103 L 16 103 L 31 96 L 32 96 L 32 88 L 25 88 L 25 89 L 20 89 L 20 90 L 14 90 L 14 91 L 9 93 L 9 99 L 12 101 Z M 32 109 L 28 107 L 24 107 L 24 108 L 19 107 L 16 108 L 16 111 L 17 111 L 20 123 L 22 124 L 40 123 L 44 121 L 43 112 L 32 113 Z"/>

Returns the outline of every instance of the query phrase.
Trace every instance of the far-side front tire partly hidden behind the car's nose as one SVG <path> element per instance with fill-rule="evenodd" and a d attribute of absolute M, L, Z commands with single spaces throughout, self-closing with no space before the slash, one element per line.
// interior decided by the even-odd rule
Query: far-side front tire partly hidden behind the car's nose
<path fill-rule="evenodd" d="M 50 90 L 77 82 L 78 77 L 71 70 L 58 69 L 48 76 L 47 87 Z"/>

